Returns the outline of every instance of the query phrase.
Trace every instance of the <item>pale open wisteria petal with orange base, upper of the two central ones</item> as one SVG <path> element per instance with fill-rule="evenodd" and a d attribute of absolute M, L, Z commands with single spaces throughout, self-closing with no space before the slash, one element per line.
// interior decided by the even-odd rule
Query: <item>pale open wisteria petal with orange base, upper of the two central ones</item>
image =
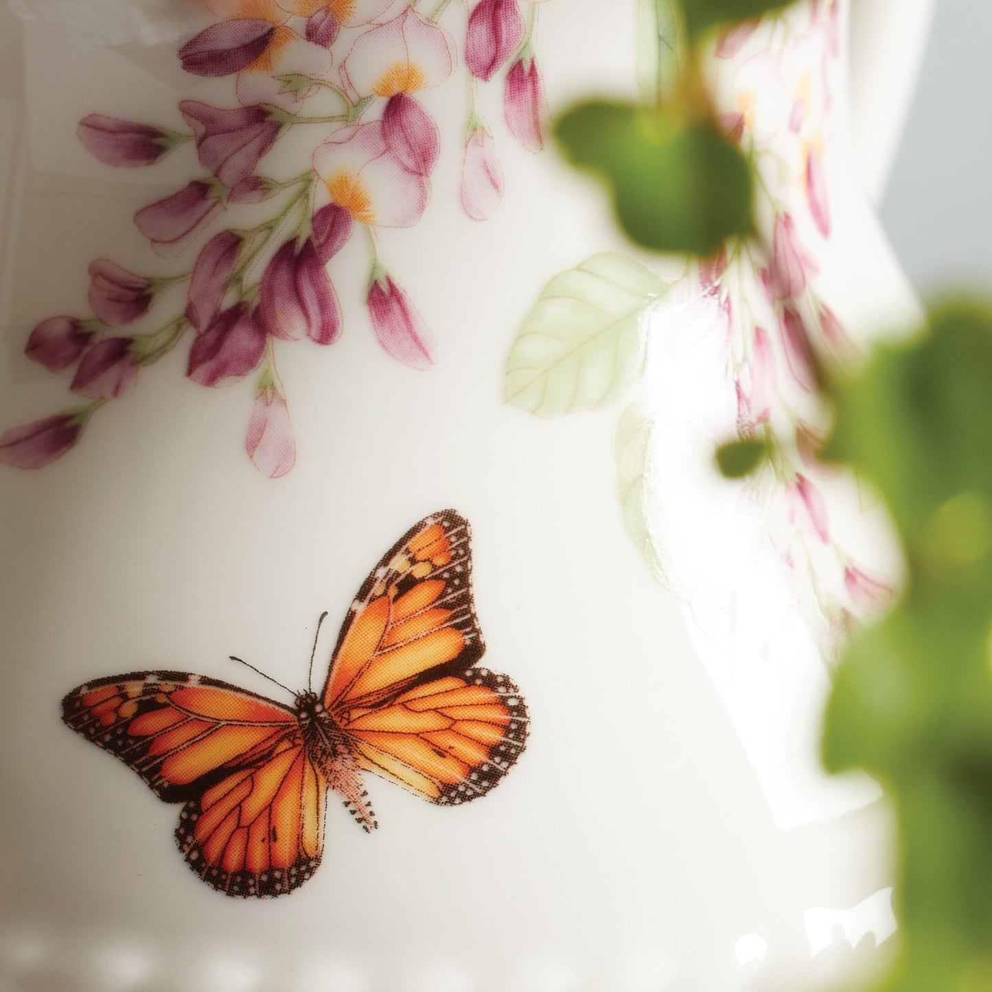
<path fill-rule="evenodd" d="M 454 59 L 450 35 L 408 7 L 358 37 L 341 64 L 341 78 L 357 96 L 417 93 L 444 82 Z"/>

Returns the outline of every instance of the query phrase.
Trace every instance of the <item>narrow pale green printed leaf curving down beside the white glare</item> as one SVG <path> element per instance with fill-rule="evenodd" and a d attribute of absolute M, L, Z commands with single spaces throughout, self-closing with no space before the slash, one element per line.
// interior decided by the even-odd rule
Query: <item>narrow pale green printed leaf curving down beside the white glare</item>
<path fill-rule="evenodd" d="M 624 526 L 648 564 L 655 580 L 669 585 L 661 546 L 652 533 L 651 436 L 654 421 L 639 403 L 631 404 L 617 425 L 613 453 L 617 465 L 617 495 Z"/>

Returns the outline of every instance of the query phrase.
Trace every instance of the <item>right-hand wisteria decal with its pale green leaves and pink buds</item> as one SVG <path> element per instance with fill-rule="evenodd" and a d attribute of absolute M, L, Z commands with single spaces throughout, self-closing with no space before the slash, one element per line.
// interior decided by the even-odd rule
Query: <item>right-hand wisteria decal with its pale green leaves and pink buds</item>
<path fill-rule="evenodd" d="M 654 576 L 706 617 L 699 626 L 710 633 L 722 629 L 713 603 L 727 589 L 715 589 L 712 573 L 732 528 L 711 520 L 710 534 L 686 534 L 698 510 L 681 501 L 720 487 L 716 499 L 727 505 L 719 515 L 729 521 L 740 507 L 727 503 L 729 487 L 714 481 L 711 465 L 696 468 L 698 451 L 733 435 L 767 440 L 772 457 L 750 484 L 750 516 L 737 531 L 753 533 L 757 512 L 772 567 L 797 590 L 827 652 L 854 618 L 896 591 L 845 551 L 834 502 L 851 504 L 843 490 L 852 480 L 817 458 L 828 424 L 817 398 L 822 370 L 858 357 L 817 288 L 831 235 L 838 20 L 839 0 L 808 0 L 716 40 L 710 84 L 726 132 L 758 167 L 760 238 L 728 243 L 674 282 L 613 253 L 559 274 L 525 318 L 505 377 L 506 401 L 540 417 L 627 399 L 615 447 L 624 523 Z M 648 99 L 664 86 L 665 65 L 657 71 L 642 73 Z M 516 70 L 507 84 L 524 90 L 526 73 Z M 680 405 L 673 394 L 689 370 L 697 378 Z M 697 475 L 686 477 L 686 466 Z M 761 554 L 769 558 L 768 548 Z"/>

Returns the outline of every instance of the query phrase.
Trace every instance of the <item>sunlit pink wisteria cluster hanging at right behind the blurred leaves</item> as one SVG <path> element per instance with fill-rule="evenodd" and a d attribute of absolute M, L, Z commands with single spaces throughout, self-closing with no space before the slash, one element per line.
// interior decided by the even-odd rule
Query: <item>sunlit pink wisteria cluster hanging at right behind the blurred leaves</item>
<path fill-rule="evenodd" d="M 773 528 L 773 540 L 788 568 L 808 565 L 831 647 L 859 614 L 890 602 L 896 589 L 891 579 L 851 558 L 831 533 L 824 491 L 836 470 L 817 456 L 827 434 L 817 399 L 824 362 L 849 366 L 858 350 L 815 286 L 815 240 L 825 242 L 832 228 L 823 130 L 839 5 L 811 0 L 811 10 L 806 32 L 792 42 L 792 61 L 769 57 L 760 47 L 748 51 L 756 22 L 728 30 L 718 41 L 717 59 L 734 60 L 730 92 L 736 105 L 726 107 L 723 124 L 747 145 L 767 178 L 759 198 L 769 236 L 763 249 L 740 243 L 730 255 L 702 264 L 698 275 L 702 290 L 727 312 L 738 434 L 763 435 L 769 443 L 770 518 L 789 525 Z"/>

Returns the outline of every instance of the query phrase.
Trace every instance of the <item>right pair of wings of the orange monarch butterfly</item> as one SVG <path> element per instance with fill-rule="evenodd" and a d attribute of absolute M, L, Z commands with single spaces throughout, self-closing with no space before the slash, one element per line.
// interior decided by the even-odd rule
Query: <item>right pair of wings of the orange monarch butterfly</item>
<path fill-rule="evenodd" d="M 453 510 L 411 528 L 359 590 L 323 690 L 359 767 L 438 805 L 484 796 L 527 738 L 516 685 L 474 668 L 485 644 L 471 568 Z"/>

